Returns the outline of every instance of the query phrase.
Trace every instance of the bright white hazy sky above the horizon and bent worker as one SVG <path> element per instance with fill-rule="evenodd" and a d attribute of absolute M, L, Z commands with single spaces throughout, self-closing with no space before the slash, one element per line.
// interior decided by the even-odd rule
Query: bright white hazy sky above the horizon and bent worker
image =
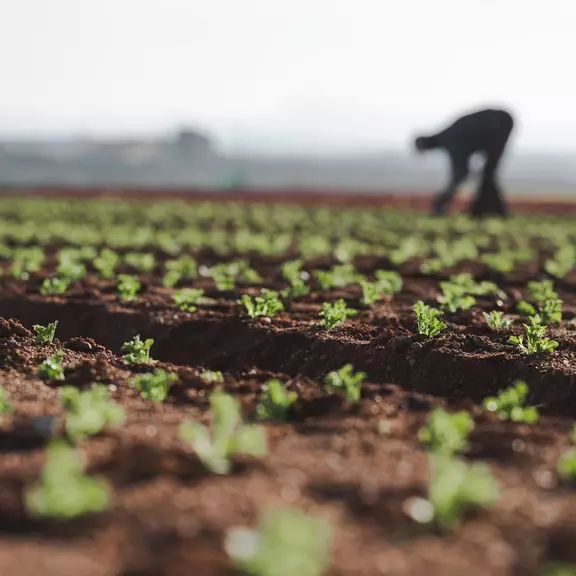
<path fill-rule="evenodd" d="M 459 112 L 576 151 L 573 0 L 0 0 L 0 133 L 405 147 Z"/>

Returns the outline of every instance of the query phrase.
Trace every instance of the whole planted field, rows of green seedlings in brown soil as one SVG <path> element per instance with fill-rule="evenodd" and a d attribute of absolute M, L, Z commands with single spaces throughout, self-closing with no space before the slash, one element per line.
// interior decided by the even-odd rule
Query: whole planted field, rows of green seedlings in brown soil
<path fill-rule="evenodd" d="M 0 197 L 0 574 L 576 574 L 575 240 Z"/>

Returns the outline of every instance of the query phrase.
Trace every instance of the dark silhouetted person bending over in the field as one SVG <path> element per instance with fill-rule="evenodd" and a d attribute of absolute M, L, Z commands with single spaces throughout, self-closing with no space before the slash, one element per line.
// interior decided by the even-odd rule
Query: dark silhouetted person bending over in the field
<path fill-rule="evenodd" d="M 418 152 L 442 149 L 450 156 L 450 182 L 438 192 L 432 212 L 441 215 L 452 201 L 458 186 L 469 174 L 470 157 L 480 152 L 484 167 L 476 198 L 470 207 L 472 216 L 506 216 L 507 208 L 496 182 L 496 169 L 514 127 L 512 116 L 505 110 L 479 110 L 456 120 L 442 132 L 416 138 Z"/>

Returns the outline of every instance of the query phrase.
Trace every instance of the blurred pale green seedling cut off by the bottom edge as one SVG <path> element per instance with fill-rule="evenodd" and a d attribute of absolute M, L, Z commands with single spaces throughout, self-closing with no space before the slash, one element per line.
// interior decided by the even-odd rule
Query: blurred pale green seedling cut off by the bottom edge
<path fill-rule="evenodd" d="M 278 508 L 262 515 L 256 531 L 228 530 L 225 549 L 250 576 L 321 576 L 330 564 L 331 543 L 325 518 Z"/>

